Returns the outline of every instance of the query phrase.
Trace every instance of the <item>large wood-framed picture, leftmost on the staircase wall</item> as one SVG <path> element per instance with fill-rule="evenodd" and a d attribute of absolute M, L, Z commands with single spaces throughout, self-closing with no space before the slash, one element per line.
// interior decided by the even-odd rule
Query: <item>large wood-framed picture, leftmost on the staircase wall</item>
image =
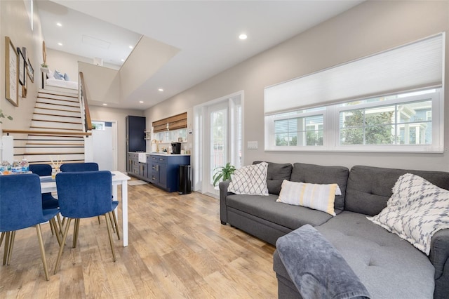
<path fill-rule="evenodd" d="M 19 105 L 18 60 L 13 42 L 9 36 L 5 36 L 5 98 L 16 107 Z"/>

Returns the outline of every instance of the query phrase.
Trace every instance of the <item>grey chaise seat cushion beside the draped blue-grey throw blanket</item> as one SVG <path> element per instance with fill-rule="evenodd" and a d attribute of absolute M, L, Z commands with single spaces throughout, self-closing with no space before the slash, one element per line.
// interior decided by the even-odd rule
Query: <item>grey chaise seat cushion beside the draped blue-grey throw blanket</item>
<path fill-rule="evenodd" d="M 434 266 L 408 241 L 343 211 L 316 227 L 343 255 L 372 298 L 432 298 Z"/>

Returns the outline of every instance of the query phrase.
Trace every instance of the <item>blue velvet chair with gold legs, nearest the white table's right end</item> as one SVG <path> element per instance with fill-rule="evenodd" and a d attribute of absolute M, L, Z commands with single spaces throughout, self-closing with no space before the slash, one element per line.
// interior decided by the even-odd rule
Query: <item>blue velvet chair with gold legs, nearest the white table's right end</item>
<path fill-rule="evenodd" d="M 115 258 L 114 241 L 112 240 L 111 223 L 108 213 L 114 211 L 119 201 L 112 201 L 112 174 L 110 171 L 61 172 L 56 175 L 56 188 L 60 213 L 67 218 L 62 234 L 62 246 L 55 265 L 55 274 L 60 267 L 62 251 L 69 232 L 69 225 L 75 220 L 73 247 L 78 239 L 79 221 L 81 218 L 105 215 L 109 244 L 112 257 Z"/>

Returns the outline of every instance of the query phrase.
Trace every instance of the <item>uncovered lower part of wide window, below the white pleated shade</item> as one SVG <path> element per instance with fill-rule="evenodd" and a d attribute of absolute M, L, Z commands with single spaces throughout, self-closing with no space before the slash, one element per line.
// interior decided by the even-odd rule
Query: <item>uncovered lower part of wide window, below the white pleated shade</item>
<path fill-rule="evenodd" d="M 443 93 L 432 88 L 265 117 L 266 150 L 441 152 Z"/>

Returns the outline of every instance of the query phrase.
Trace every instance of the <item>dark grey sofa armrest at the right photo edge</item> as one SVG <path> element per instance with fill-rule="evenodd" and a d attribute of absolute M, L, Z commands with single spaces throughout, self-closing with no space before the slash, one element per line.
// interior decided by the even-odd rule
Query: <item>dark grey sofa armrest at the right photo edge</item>
<path fill-rule="evenodd" d="M 444 298 L 449 293 L 449 229 L 432 237 L 429 260 L 435 267 L 434 298 Z"/>

